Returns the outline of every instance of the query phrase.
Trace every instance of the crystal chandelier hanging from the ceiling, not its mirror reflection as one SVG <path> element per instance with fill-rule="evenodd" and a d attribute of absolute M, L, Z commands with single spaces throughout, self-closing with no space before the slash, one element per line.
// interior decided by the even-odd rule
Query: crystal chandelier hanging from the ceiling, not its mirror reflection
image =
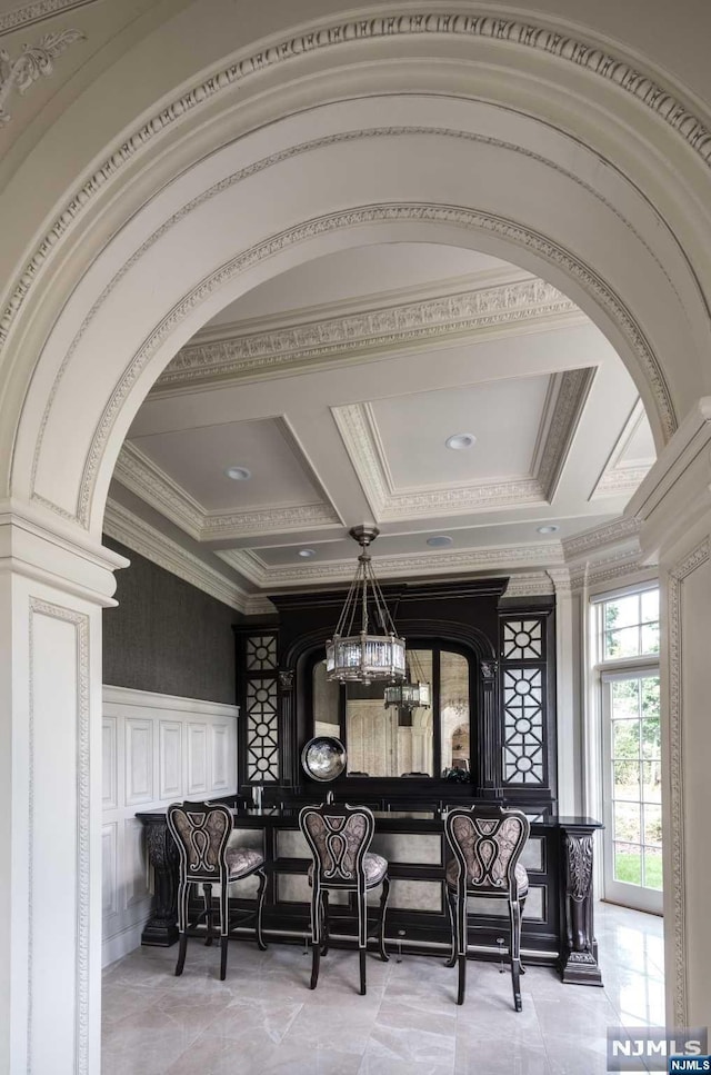
<path fill-rule="evenodd" d="M 360 545 L 361 553 L 336 633 L 326 644 L 327 679 L 341 683 L 404 679 L 404 638 L 395 635 L 369 551 L 380 530 L 374 526 L 354 526 L 349 534 Z M 371 616 L 375 621 L 372 631 Z M 357 617 L 360 617 L 360 630 Z"/>

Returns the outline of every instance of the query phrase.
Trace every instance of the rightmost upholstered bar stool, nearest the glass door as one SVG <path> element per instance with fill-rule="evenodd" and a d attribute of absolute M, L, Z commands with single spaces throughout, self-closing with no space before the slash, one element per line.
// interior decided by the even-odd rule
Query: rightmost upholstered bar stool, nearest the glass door
<path fill-rule="evenodd" d="M 467 900 L 470 896 L 487 896 L 505 899 L 509 906 L 513 1005 L 517 1012 L 522 1008 L 521 917 L 529 878 L 519 857 L 530 828 L 525 814 L 500 806 L 455 807 L 447 815 L 444 830 L 454 853 L 445 870 L 452 922 L 452 955 L 448 966 L 459 963 L 458 1004 L 464 1003 L 467 987 Z"/>

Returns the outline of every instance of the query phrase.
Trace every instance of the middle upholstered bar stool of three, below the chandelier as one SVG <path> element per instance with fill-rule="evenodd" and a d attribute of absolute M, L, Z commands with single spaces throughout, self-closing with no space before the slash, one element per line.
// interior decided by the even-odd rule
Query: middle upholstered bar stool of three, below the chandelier
<path fill-rule="evenodd" d="M 360 994 L 365 995 L 365 952 L 368 947 L 368 893 L 382 885 L 378 927 L 380 958 L 387 963 L 385 909 L 390 880 L 388 862 L 369 852 L 375 822 L 367 806 L 304 806 L 299 826 L 313 856 L 309 866 L 311 885 L 311 988 L 319 981 L 321 955 L 328 953 L 329 893 L 356 895 L 358 906 L 358 952 Z"/>

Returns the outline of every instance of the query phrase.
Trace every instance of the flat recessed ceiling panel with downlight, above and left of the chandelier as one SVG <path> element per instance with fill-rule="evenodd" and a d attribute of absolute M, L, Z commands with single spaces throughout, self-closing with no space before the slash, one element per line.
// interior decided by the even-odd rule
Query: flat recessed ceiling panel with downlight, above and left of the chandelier
<path fill-rule="evenodd" d="M 323 499 L 286 424 L 278 418 L 200 426 L 131 441 L 206 511 L 240 511 Z M 234 481 L 226 470 L 251 475 Z"/>

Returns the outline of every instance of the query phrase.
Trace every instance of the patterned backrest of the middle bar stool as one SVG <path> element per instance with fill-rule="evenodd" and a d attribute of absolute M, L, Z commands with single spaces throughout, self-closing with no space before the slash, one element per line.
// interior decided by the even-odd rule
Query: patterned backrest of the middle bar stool
<path fill-rule="evenodd" d="M 363 858 L 375 830 L 367 806 L 304 806 L 299 826 L 311 848 L 320 885 L 364 887 Z"/>

